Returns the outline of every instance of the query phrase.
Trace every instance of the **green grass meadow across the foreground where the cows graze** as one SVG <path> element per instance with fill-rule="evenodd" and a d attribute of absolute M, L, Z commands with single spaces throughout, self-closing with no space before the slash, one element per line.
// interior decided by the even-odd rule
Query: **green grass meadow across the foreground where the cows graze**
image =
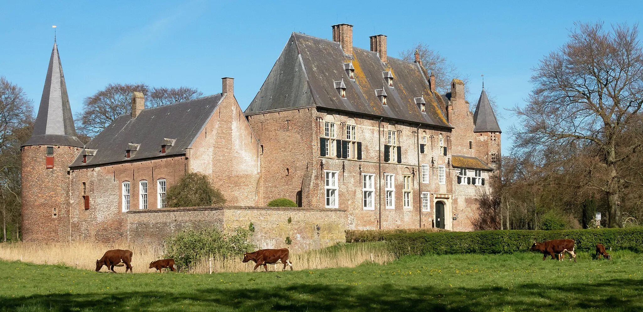
<path fill-rule="evenodd" d="M 613 257 L 409 256 L 385 266 L 212 275 L 0 261 L 0 311 L 643 311 L 643 255 Z"/>

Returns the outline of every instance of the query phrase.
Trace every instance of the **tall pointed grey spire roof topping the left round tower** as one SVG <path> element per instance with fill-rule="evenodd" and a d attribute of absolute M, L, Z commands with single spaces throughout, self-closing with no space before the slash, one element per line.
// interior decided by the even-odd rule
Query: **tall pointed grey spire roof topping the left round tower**
<path fill-rule="evenodd" d="M 65 76 L 62 74 L 58 44 L 55 40 L 42 89 L 41 104 L 33 125 L 33 135 L 24 145 L 84 146 L 76 137 Z"/>

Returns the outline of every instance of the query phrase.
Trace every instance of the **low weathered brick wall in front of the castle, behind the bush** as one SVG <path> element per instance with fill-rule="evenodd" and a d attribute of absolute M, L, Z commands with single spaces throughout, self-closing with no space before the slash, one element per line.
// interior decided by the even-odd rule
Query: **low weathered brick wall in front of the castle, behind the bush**
<path fill-rule="evenodd" d="M 290 220 L 290 222 L 289 222 Z M 184 229 L 213 226 L 220 230 L 255 227 L 258 248 L 306 250 L 345 241 L 346 211 L 311 207 L 187 207 L 127 212 L 127 237 L 132 243 L 160 245 Z M 292 245 L 285 240 L 290 237 Z"/>

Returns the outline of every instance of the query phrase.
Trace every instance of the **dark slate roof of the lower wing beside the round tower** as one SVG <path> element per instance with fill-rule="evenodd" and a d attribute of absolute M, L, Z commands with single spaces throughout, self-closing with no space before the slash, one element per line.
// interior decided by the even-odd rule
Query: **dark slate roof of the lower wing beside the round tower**
<path fill-rule="evenodd" d="M 192 146 L 222 99 L 222 94 L 214 94 L 146 108 L 134 119 L 130 114 L 119 116 L 87 143 L 86 148 L 69 167 L 79 169 L 98 164 L 183 155 L 185 149 Z M 173 139 L 176 140 L 174 144 L 167 146 L 165 154 L 162 154 L 161 145 L 172 143 Z M 132 150 L 131 157 L 126 158 L 125 150 L 132 149 L 132 146 L 138 149 Z M 87 157 L 87 163 L 83 164 L 82 155 L 91 153 L 95 155 Z"/>

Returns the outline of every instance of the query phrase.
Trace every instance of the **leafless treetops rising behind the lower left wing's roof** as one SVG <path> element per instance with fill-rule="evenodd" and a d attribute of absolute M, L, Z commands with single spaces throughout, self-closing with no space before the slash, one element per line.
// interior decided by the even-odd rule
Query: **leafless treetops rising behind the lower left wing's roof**
<path fill-rule="evenodd" d="M 76 116 L 79 137 L 83 142 L 89 141 L 102 130 L 107 128 L 116 117 L 131 111 L 133 92 L 145 94 L 145 107 L 158 107 L 187 101 L 203 96 L 203 92 L 189 87 L 179 88 L 150 88 L 138 84 L 110 83 L 105 89 L 87 96 L 83 101 L 83 111 Z"/>

